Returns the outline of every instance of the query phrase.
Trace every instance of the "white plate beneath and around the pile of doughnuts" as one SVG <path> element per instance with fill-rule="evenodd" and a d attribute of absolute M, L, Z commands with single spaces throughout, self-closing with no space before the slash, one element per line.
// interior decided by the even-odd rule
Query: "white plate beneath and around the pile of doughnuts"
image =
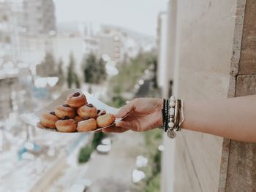
<path fill-rule="evenodd" d="M 64 101 L 66 101 L 67 96 L 69 96 L 69 94 L 71 93 L 75 93 L 80 91 L 79 89 L 69 89 L 67 91 L 65 91 L 64 93 L 61 94 L 61 96 L 59 96 L 58 99 L 56 99 L 55 101 L 53 101 L 51 104 L 49 104 L 47 107 L 44 107 L 42 110 L 39 110 L 37 112 L 31 112 L 31 113 L 25 113 L 23 115 L 20 115 L 20 118 L 25 122 L 28 123 L 31 126 L 37 127 L 37 128 L 42 128 L 48 131 L 55 131 L 55 132 L 59 132 L 57 129 L 52 129 L 52 128 L 45 128 L 43 127 L 40 123 L 39 123 L 39 117 L 42 114 L 42 112 L 52 112 L 54 111 L 54 109 L 61 105 L 64 104 Z M 108 106 L 108 104 L 103 103 L 102 101 L 99 101 L 98 99 L 94 98 L 93 95 L 91 95 L 90 93 L 86 92 L 86 91 L 82 91 L 83 94 L 85 94 L 87 102 L 90 104 L 93 104 L 98 110 L 106 110 L 107 113 L 112 113 L 112 114 L 116 114 L 116 112 L 118 112 L 118 109 L 114 108 L 114 107 L 110 107 Z M 128 114 L 127 114 L 128 115 Z M 123 118 L 116 118 L 115 123 L 111 124 L 110 126 L 106 126 L 103 128 L 97 128 L 94 131 L 99 131 L 102 130 L 104 128 L 108 128 L 108 127 L 112 127 L 115 126 L 116 123 L 124 118 L 127 117 L 127 115 L 125 115 Z M 93 132 L 94 132 L 93 131 Z M 88 132 L 88 131 L 87 131 Z M 63 133 L 63 132 L 59 132 L 59 133 Z M 72 132 L 72 133 L 78 133 L 78 132 Z M 69 134 L 72 134 L 69 133 Z M 83 132 L 79 132 L 79 133 L 83 133 Z"/>

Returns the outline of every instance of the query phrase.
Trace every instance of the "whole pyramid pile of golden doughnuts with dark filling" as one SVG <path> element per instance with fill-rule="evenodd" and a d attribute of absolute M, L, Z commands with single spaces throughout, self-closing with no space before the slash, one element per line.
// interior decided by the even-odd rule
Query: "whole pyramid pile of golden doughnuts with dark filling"
<path fill-rule="evenodd" d="M 110 126 L 115 120 L 114 115 L 88 104 L 81 92 L 70 94 L 63 105 L 56 107 L 53 112 L 43 112 L 40 116 L 42 126 L 57 128 L 60 132 L 94 131 Z"/>

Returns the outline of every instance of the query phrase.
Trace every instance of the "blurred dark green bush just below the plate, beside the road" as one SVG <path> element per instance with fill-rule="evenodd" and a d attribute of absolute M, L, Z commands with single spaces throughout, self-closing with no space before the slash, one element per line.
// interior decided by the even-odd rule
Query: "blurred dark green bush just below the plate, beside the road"
<path fill-rule="evenodd" d="M 87 161 L 89 161 L 89 158 L 91 157 L 91 153 L 94 152 L 95 148 L 99 145 L 100 141 L 104 137 L 105 137 L 105 134 L 102 132 L 95 133 L 91 141 L 91 145 L 86 145 L 85 147 L 82 147 L 80 149 L 80 152 L 78 155 L 78 162 L 80 164 L 86 163 Z"/>

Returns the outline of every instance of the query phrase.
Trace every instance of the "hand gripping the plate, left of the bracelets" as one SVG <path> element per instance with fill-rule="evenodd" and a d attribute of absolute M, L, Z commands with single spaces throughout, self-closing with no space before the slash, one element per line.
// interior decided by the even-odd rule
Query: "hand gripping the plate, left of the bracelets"
<path fill-rule="evenodd" d="M 162 126 L 162 99 L 133 99 L 116 114 L 116 118 L 127 115 L 127 118 L 116 123 L 114 128 L 105 128 L 103 132 L 148 131 Z"/>

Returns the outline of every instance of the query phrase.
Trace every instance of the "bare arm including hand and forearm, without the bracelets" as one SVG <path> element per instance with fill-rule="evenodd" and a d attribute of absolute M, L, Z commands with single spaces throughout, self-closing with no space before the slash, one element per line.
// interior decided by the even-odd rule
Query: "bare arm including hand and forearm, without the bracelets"
<path fill-rule="evenodd" d="M 147 131 L 162 126 L 161 99 L 134 99 L 116 115 L 129 116 L 105 132 Z M 244 142 L 256 142 L 256 95 L 233 99 L 184 101 L 181 128 Z"/>

